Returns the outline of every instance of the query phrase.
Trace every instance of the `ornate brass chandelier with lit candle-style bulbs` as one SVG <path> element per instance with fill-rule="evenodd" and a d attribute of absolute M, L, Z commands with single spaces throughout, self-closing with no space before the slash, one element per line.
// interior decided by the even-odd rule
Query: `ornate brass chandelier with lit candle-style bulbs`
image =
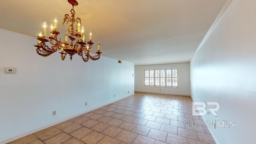
<path fill-rule="evenodd" d="M 68 24 L 68 22 L 71 22 L 71 25 L 68 27 L 68 33 L 66 32 L 65 40 L 64 42 L 57 39 L 58 32 L 57 30 L 57 19 L 54 20 L 54 25 L 51 24 L 51 31 L 50 36 L 46 38 L 46 22 L 43 23 L 43 33 L 40 32 L 38 36 L 38 43 L 35 45 L 37 47 L 36 52 L 43 57 L 49 56 L 50 54 L 61 50 L 61 59 L 64 60 L 66 58 L 66 55 L 69 54 L 70 60 L 72 60 L 72 56 L 74 54 L 78 54 L 82 57 L 84 62 L 87 62 L 90 59 L 92 60 L 98 60 L 100 58 L 100 42 L 98 43 L 98 52 L 97 55 L 91 56 L 90 55 L 90 49 L 92 48 L 93 42 L 92 42 L 92 32 L 90 32 L 90 38 L 87 42 L 88 45 L 86 45 L 86 42 L 84 41 L 84 26 L 81 28 L 81 19 L 75 18 L 75 11 L 74 6 L 78 5 L 78 2 L 76 0 L 68 0 L 70 4 L 72 4 L 72 9 L 70 10 L 71 16 L 68 14 L 65 14 L 65 18 L 63 19 L 63 26 L 64 24 Z M 76 29 L 74 32 L 74 28 Z M 70 39 L 70 43 L 68 43 L 68 38 Z M 52 46 L 47 46 L 46 42 L 50 42 Z"/>

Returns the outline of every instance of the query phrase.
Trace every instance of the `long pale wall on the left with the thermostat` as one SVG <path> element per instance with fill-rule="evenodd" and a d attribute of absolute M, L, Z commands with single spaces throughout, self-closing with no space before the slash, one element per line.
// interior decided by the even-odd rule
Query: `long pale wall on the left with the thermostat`
<path fill-rule="evenodd" d="M 104 56 L 62 61 L 58 52 L 44 58 L 36 38 L 3 29 L 0 37 L 0 143 L 134 94 L 134 64 Z M 3 67 L 17 67 L 17 74 Z"/>

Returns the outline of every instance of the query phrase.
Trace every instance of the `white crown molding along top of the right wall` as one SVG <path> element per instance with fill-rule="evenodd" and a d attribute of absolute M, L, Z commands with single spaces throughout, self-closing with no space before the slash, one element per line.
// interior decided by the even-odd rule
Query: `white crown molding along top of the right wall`
<path fill-rule="evenodd" d="M 206 39 L 209 37 L 209 35 L 211 34 L 213 28 L 215 27 L 215 25 L 218 23 L 218 21 L 220 20 L 220 18 L 222 17 L 222 15 L 224 14 L 224 12 L 227 10 L 228 6 L 230 6 L 231 2 L 233 0 L 227 0 L 226 3 L 224 4 L 224 6 L 222 7 L 220 13 L 218 14 L 218 16 L 216 17 L 216 19 L 214 20 L 212 26 L 210 26 L 209 30 L 207 31 L 207 33 L 205 34 L 202 42 L 199 44 L 198 48 L 196 49 L 196 52 L 194 53 L 192 59 L 194 58 L 194 56 L 196 55 L 196 53 L 200 50 L 200 48 L 202 47 L 202 45 L 204 44 L 204 42 L 206 41 Z M 191 59 L 191 60 L 192 60 Z M 191 61 L 190 60 L 190 61 Z"/>

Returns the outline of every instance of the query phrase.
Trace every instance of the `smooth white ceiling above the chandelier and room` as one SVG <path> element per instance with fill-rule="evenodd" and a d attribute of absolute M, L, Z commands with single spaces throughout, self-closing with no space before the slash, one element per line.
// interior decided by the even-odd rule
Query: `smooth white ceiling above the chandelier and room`
<path fill-rule="evenodd" d="M 135 65 L 189 62 L 226 0 L 77 0 L 76 17 L 86 39 L 101 42 L 102 55 Z M 58 19 L 72 6 L 67 0 L 2 0 L 0 25 L 38 35 L 42 23 Z M 64 36 L 62 35 L 64 38 Z M 62 39 L 63 39 L 62 38 Z M 35 44 L 37 40 L 35 39 Z M 33 46 L 31 46 L 33 48 Z M 94 46 L 93 51 L 96 52 Z"/>

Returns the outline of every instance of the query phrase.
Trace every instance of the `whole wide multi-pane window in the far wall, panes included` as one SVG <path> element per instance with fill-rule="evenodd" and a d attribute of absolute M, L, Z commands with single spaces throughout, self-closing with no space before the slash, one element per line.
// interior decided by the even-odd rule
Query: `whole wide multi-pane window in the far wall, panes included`
<path fill-rule="evenodd" d="M 178 87 L 178 68 L 145 70 L 145 86 Z"/>

